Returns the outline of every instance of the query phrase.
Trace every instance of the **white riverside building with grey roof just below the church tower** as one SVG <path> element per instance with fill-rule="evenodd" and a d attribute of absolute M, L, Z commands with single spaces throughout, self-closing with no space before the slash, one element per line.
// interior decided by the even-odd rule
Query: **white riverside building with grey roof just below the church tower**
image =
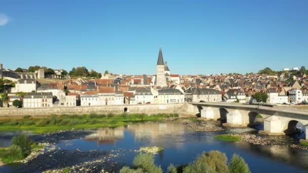
<path fill-rule="evenodd" d="M 185 96 L 176 89 L 163 89 L 158 91 L 159 103 L 183 103 Z"/>

